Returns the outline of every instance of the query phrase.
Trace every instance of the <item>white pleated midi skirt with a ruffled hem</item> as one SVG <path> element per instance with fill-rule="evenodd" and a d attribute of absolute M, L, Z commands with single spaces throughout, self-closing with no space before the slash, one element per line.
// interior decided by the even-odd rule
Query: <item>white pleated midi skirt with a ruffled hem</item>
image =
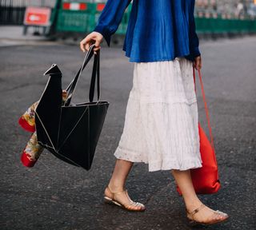
<path fill-rule="evenodd" d="M 193 65 L 135 62 L 122 136 L 114 156 L 144 162 L 149 171 L 202 167 Z"/>

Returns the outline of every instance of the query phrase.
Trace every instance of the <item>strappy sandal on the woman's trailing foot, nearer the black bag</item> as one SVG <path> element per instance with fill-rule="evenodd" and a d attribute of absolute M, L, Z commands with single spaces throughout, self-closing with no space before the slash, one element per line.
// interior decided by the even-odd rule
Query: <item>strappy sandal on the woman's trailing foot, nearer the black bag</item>
<path fill-rule="evenodd" d="M 106 189 L 108 190 L 108 192 L 111 194 L 111 196 L 104 196 L 104 200 L 106 203 L 108 204 L 116 204 L 121 208 L 125 208 L 128 211 L 134 211 L 134 212 L 143 212 L 145 211 L 145 206 L 144 204 L 141 204 L 139 202 L 134 202 L 133 200 L 130 200 L 130 196 L 128 195 L 127 190 L 123 190 L 122 192 L 111 192 L 109 186 L 106 187 Z M 122 204 L 120 201 L 115 199 L 115 196 L 117 196 L 118 194 L 122 194 L 125 193 L 126 196 L 128 197 L 128 200 L 130 202 L 127 202 L 126 204 Z M 136 207 L 136 208 L 131 208 L 131 207 Z M 140 208 L 138 208 L 140 207 Z"/>

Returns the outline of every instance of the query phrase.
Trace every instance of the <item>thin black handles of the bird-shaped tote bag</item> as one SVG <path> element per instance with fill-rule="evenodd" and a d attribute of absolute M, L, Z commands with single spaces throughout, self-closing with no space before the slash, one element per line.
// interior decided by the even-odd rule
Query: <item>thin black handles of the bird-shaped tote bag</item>
<path fill-rule="evenodd" d="M 92 102 L 94 101 L 94 88 L 95 88 L 95 80 L 96 80 L 96 75 L 97 75 L 97 91 L 98 91 L 98 101 L 100 97 L 100 85 L 99 85 L 99 57 L 100 57 L 100 52 L 99 50 L 97 51 L 97 54 L 94 54 L 94 44 L 90 46 L 88 52 L 86 53 L 86 56 L 82 62 L 82 67 L 78 70 L 78 73 L 74 77 L 74 79 L 70 82 L 70 85 L 67 86 L 66 91 L 68 91 L 67 99 L 64 102 L 64 106 L 70 105 L 72 96 L 74 94 L 75 87 L 78 83 L 78 79 L 81 76 L 82 70 L 85 69 L 86 65 L 90 61 L 91 57 L 94 55 L 94 66 L 93 66 L 93 71 L 91 75 L 91 80 L 90 80 L 90 92 L 89 92 L 89 101 Z"/>

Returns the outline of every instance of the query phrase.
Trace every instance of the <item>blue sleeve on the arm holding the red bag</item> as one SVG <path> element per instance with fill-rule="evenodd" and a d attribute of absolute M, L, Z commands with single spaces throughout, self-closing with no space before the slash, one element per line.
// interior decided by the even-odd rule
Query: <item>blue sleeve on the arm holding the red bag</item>
<path fill-rule="evenodd" d="M 190 5 L 190 54 L 194 57 L 200 56 L 199 40 L 196 33 L 196 26 L 194 22 L 194 0 L 191 0 Z"/>

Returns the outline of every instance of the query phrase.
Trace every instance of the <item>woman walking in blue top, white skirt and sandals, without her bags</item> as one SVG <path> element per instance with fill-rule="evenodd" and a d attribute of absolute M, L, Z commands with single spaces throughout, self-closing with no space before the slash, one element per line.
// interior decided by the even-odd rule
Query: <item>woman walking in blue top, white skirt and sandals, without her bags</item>
<path fill-rule="evenodd" d="M 108 0 L 94 31 L 80 42 L 83 52 L 102 39 L 110 46 L 131 0 Z M 130 211 L 145 206 L 130 199 L 126 178 L 134 162 L 149 171 L 170 170 L 193 224 L 215 224 L 228 218 L 202 204 L 190 169 L 202 167 L 198 137 L 198 105 L 193 65 L 202 68 L 194 24 L 194 0 L 134 0 L 123 50 L 134 62 L 133 88 L 126 106 L 114 172 L 105 200 Z"/>

